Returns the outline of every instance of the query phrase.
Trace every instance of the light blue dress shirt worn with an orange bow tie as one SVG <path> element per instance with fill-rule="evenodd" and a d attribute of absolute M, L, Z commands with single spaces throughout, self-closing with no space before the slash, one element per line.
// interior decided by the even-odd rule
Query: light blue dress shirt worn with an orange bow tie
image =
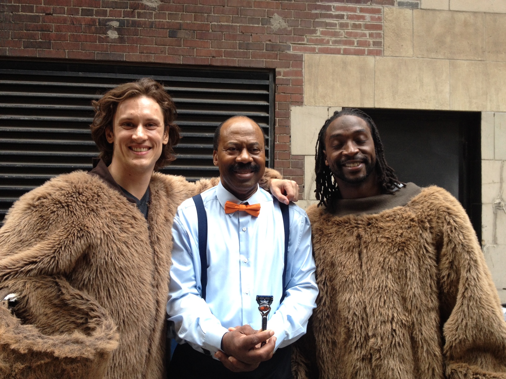
<path fill-rule="evenodd" d="M 274 330 L 276 349 L 306 333 L 316 307 L 318 288 L 311 246 L 311 225 L 306 212 L 289 205 L 286 297 L 283 287 L 284 229 L 279 203 L 262 188 L 246 200 L 260 203 L 260 215 L 244 211 L 226 214 L 225 202 L 243 203 L 221 182 L 202 195 L 207 214 L 207 287 L 201 295 L 197 211 L 192 199 L 178 208 L 172 230 L 171 285 L 168 320 L 178 343 L 194 349 L 220 350 L 230 326 L 262 327 L 257 295 L 273 295 L 267 328 Z"/>

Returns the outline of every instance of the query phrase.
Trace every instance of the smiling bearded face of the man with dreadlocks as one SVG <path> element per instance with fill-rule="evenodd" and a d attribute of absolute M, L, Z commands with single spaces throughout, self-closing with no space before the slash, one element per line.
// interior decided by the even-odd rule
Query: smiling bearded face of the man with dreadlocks
<path fill-rule="evenodd" d="M 376 166 L 370 128 L 357 116 L 344 115 L 330 123 L 324 153 L 339 186 L 363 183 Z"/>

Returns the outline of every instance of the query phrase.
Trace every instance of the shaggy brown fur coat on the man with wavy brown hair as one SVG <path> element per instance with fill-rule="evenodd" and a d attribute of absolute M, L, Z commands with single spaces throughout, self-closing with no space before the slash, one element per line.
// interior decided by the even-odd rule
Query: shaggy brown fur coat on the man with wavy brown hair
<path fill-rule="evenodd" d="M 264 178 L 268 177 L 278 177 L 278 173 L 266 170 Z M 82 171 L 56 177 L 23 195 L 0 229 L 0 288 L 18 288 L 26 278 L 36 288 L 33 280 L 43 283 L 55 276 L 51 280 L 89 304 L 62 309 L 60 300 L 37 302 L 37 298 L 51 298 L 54 290 L 36 296 L 33 291 L 21 291 L 25 304 L 32 306 L 15 313 L 18 319 L 4 302 L 0 306 L 4 374 L 0 377 L 164 377 L 173 218 L 183 200 L 217 182 L 189 183 L 182 176 L 154 173 L 149 229 L 135 204 L 98 176 Z M 68 300 L 70 305 L 74 300 Z M 93 307 L 98 309 L 93 310 L 95 318 L 88 314 Z M 36 313 L 31 319 L 30 312 Z M 25 323 L 31 323 L 25 325 L 30 327 L 21 327 Z M 117 327 L 119 337 L 111 325 Z M 79 344 L 80 353 L 75 347 Z M 31 376 L 16 376 L 17 367 L 27 361 L 38 371 L 25 367 L 25 374 Z M 72 364 L 78 367 L 62 368 Z M 86 365 L 96 373 L 82 375 Z"/>

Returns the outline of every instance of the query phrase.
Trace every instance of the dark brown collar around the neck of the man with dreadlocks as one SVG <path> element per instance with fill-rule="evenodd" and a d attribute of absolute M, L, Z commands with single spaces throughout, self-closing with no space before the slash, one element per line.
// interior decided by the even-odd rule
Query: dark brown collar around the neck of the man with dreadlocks
<path fill-rule="evenodd" d="M 421 192 L 421 188 L 414 183 L 406 183 L 393 194 L 370 196 L 362 199 L 338 199 L 335 215 L 343 217 L 349 214 L 375 214 L 387 209 L 405 206 L 412 198 Z"/>

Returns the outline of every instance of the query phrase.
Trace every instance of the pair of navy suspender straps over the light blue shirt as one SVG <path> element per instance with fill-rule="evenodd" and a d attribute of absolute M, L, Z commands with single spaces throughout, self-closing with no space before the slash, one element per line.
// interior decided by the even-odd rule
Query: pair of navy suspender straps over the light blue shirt
<path fill-rule="evenodd" d="M 198 220 L 198 253 L 200 256 L 200 285 L 202 286 L 201 297 L 205 300 L 205 290 L 207 287 L 207 214 L 205 213 L 202 197 L 195 195 L 193 202 L 197 208 Z M 283 266 L 283 292 L 279 304 L 283 302 L 286 293 L 286 263 L 288 261 L 288 241 L 290 239 L 290 219 L 288 215 L 288 206 L 279 203 L 281 215 L 283 216 L 283 228 L 285 235 L 284 246 L 284 266 Z"/>

